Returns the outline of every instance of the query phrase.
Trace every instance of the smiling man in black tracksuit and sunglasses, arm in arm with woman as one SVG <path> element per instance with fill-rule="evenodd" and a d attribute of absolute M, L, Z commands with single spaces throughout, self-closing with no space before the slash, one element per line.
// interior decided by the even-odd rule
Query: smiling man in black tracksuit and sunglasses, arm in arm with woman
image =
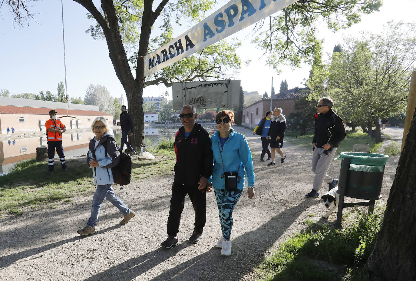
<path fill-rule="evenodd" d="M 200 124 L 195 123 L 198 117 L 196 108 L 191 105 L 182 107 L 179 117 L 183 127 L 179 128 L 175 137 L 175 179 L 168 217 L 168 238 L 161 244 L 168 249 L 179 243 L 179 223 L 186 194 L 195 210 L 195 228 L 189 242 L 196 244 L 201 239 L 206 221 L 207 183 L 213 168 L 210 137 Z"/>

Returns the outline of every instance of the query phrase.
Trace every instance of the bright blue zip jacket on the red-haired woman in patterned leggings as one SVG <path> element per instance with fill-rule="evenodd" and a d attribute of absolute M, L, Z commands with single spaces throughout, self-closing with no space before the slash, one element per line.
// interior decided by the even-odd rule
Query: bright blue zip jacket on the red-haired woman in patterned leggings
<path fill-rule="evenodd" d="M 208 182 L 216 189 L 225 189 L 225 179 L 221 179 L 221 175 L 225 172 L 237 172 L 241 177 L 240 182 L 237 180 L 238 189 L 244 189 L 245 174 L 247 174 L 247 181 L 249 186 L 254 186 L 254 172 L 253 159 L 251 158 L 250 148 L 248 147 L 247 139 L 244 135 L 238 134 L 231 128 L 230 136 L 224 144 L 222 150 L 223 165 L 221 163 L 220 150 L 220 132 L 217 131 L 211 136 L 211 149 L 214 154 L 214 168 L 212 176 Z M 218 144 L 220 148 L 218 149 Z M 245 173 L 244 173 L 245 169 Z"/>

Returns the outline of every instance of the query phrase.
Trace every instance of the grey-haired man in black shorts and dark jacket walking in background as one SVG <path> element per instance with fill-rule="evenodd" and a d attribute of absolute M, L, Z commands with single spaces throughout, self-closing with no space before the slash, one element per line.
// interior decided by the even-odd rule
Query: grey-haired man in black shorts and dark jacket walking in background
<path fill-rule="evenodd" d="M 272 162 L 269 166 L 275 165 L 275 152 L 280 154 L 280 163 L 285 162 L 286 155 L 283 154 L 281 148 L 283 147 L 283 137 L 285 137 L 286 131 L 286 118 L 282 114 L 283 110 L 280 107 L 276 107 L 273 110 L 273 117 L 270 120 L 270 129 L 267 132 L 267 140 L 270 139 L 270 148 L 272 149 Z"/>

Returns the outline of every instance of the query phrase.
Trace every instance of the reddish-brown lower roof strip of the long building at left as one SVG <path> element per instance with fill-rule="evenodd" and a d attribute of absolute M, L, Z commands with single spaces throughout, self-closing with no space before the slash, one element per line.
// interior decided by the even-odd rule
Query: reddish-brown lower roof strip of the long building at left
<path fill-rule="evenodd" d="M 51 109 L 53 108 L 0 105 L 0 114 L 45 114 L 45 115 L 49 115 L 49 111 Z M 55 110 L 57 110 L 58 117 L 67 115 L 67 109 L 55 109 Z M 79 110 L 79 109 L 68 109 L 68 115 L 69 116 L 76 116 L 76 115 L 112 116 L 111 114 L 104 113 L 101 111 Z"/>

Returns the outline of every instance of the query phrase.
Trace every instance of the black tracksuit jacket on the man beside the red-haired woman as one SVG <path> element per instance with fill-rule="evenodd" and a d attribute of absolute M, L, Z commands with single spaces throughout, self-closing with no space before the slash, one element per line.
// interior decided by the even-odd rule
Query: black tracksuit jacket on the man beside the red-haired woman
<path fill-rule="evenodd" d="M 189 137 L 185 138 L 185 127 L 179 128 L 175 137 L 176 164 L 175 182 L 182 185 L 198 186 L 201 177 L 212 175 L 213 153 L 208 132 L 195 123 Z"/>

